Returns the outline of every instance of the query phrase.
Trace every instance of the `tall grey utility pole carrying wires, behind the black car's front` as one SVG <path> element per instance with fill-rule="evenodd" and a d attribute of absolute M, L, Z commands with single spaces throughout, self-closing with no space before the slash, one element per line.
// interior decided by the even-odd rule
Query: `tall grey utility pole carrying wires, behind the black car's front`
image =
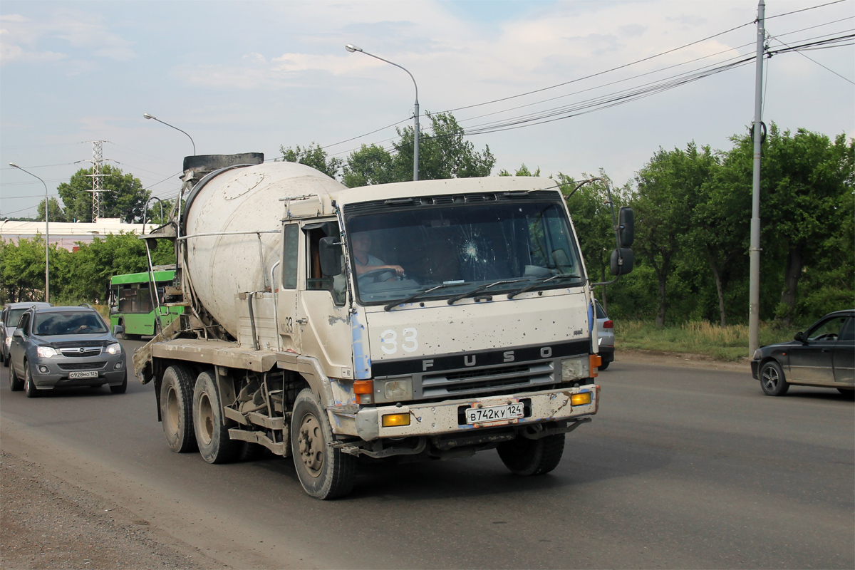
<path fill-rule="evenodd" d="M 766 31 L 766 4 L 757 7 L 757 74 L 754 81 L 754 177 L 752 185 L 752 217 L 750 273 L 748 285 L 748 357 L 760 346 L 760 154 L 763 150 L 763 56 Z"/>

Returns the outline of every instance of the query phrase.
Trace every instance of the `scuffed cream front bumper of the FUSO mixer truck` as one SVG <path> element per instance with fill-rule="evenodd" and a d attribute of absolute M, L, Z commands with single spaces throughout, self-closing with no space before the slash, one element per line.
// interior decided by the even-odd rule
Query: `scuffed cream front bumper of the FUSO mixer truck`
<path fill-rule="evenodd" d="M 573 406 L 570 397 L 583 392 L 591 393 L 591 403 Z M 502 420 L 478 425 L 470 425 L 463 420 L 464 408 L 480 403 L 484 407 L 499 406 L 509 402 L 523 402 L 526 417 L 518 420 Z M 553 422 L 581 418 L 597 413 L 599 407 L 599 386 L 584 385 L 567 387 L 561 390 L 538 391 L 526 394 L 498 395 L 467 400 L 447 400 L 439 403 L 414 403 L 410 405 L 389 405 L 377 408 L 363 408 L 352 414 L 350 421 L 342 414 L 330 412 L 333 426 L 344 429 L 336 432 L 356 435 L 364 441 L 379 438 L 406 438 L 410 436 L 433 436 L 448 433 L 473 433 L 474 431 L 501 426 L 526 426 L 543 422 Z M 410 414 L 409 426 L 382 425 L 385 414 Z M 350 415 L 350 414 L 349 414 Z M 350 419 L 350 418 L 348 418 Z M 344 420 L 344 421 L 343 421 Z M 351 429 L 347 429 L 347 428 Z M 351 431 L 352 430 L 352 431 Z"/>

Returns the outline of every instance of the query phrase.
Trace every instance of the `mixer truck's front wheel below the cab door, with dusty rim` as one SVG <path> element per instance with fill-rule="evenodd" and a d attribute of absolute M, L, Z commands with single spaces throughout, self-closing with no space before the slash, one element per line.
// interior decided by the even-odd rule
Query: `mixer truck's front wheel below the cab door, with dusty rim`
<path fill-rule="evenodd" d="M 333 428 L 310 389 L 297 395 L 291 419 L 291 446 L 300 485 L 316 499 L 344 497 L 353 488 L 357 458 L 333 448 Z"/>

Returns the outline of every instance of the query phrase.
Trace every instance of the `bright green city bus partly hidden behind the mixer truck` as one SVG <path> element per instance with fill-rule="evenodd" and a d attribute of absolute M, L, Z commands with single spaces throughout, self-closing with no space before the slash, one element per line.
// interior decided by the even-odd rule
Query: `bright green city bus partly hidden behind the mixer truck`
<path fill-rule="evenodd" d="M 168 326 L 184 307 L 165 307 L 166 287 L 172 286 L 174 270 L 155 271 L 156 299 L 151 291 L 151 273 L 114 275 L 109 280 L 110 326 L 125 327 L 125 338 L 156 334 L 160 327 Z M 159 306 L 159 309 L 158 309 Z M 157 326 L 157 321 L 160 321 Z"/>

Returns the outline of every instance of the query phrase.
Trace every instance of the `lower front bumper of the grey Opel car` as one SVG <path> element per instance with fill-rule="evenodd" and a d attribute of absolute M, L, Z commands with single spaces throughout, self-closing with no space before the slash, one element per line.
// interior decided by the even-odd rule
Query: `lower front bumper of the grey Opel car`
<path fill-rule="evenodd" d="M 127 362 L 125 354 L 109 356 L 95 356 L 92 358 L 68 358 L 64 356 L 53 356 L 51 358 L 39 358 L 28 363 L 32 374 L 32 383 L 39 390 L 50 388 L 63 388 L 71 386 L 92 385 L 121 385 L 125 380 Z M 74 368 L 69 370 L 68 368 Z M 69 378 L 74 372 L 95 372 L 97 376 L 90 378 Z"/>

